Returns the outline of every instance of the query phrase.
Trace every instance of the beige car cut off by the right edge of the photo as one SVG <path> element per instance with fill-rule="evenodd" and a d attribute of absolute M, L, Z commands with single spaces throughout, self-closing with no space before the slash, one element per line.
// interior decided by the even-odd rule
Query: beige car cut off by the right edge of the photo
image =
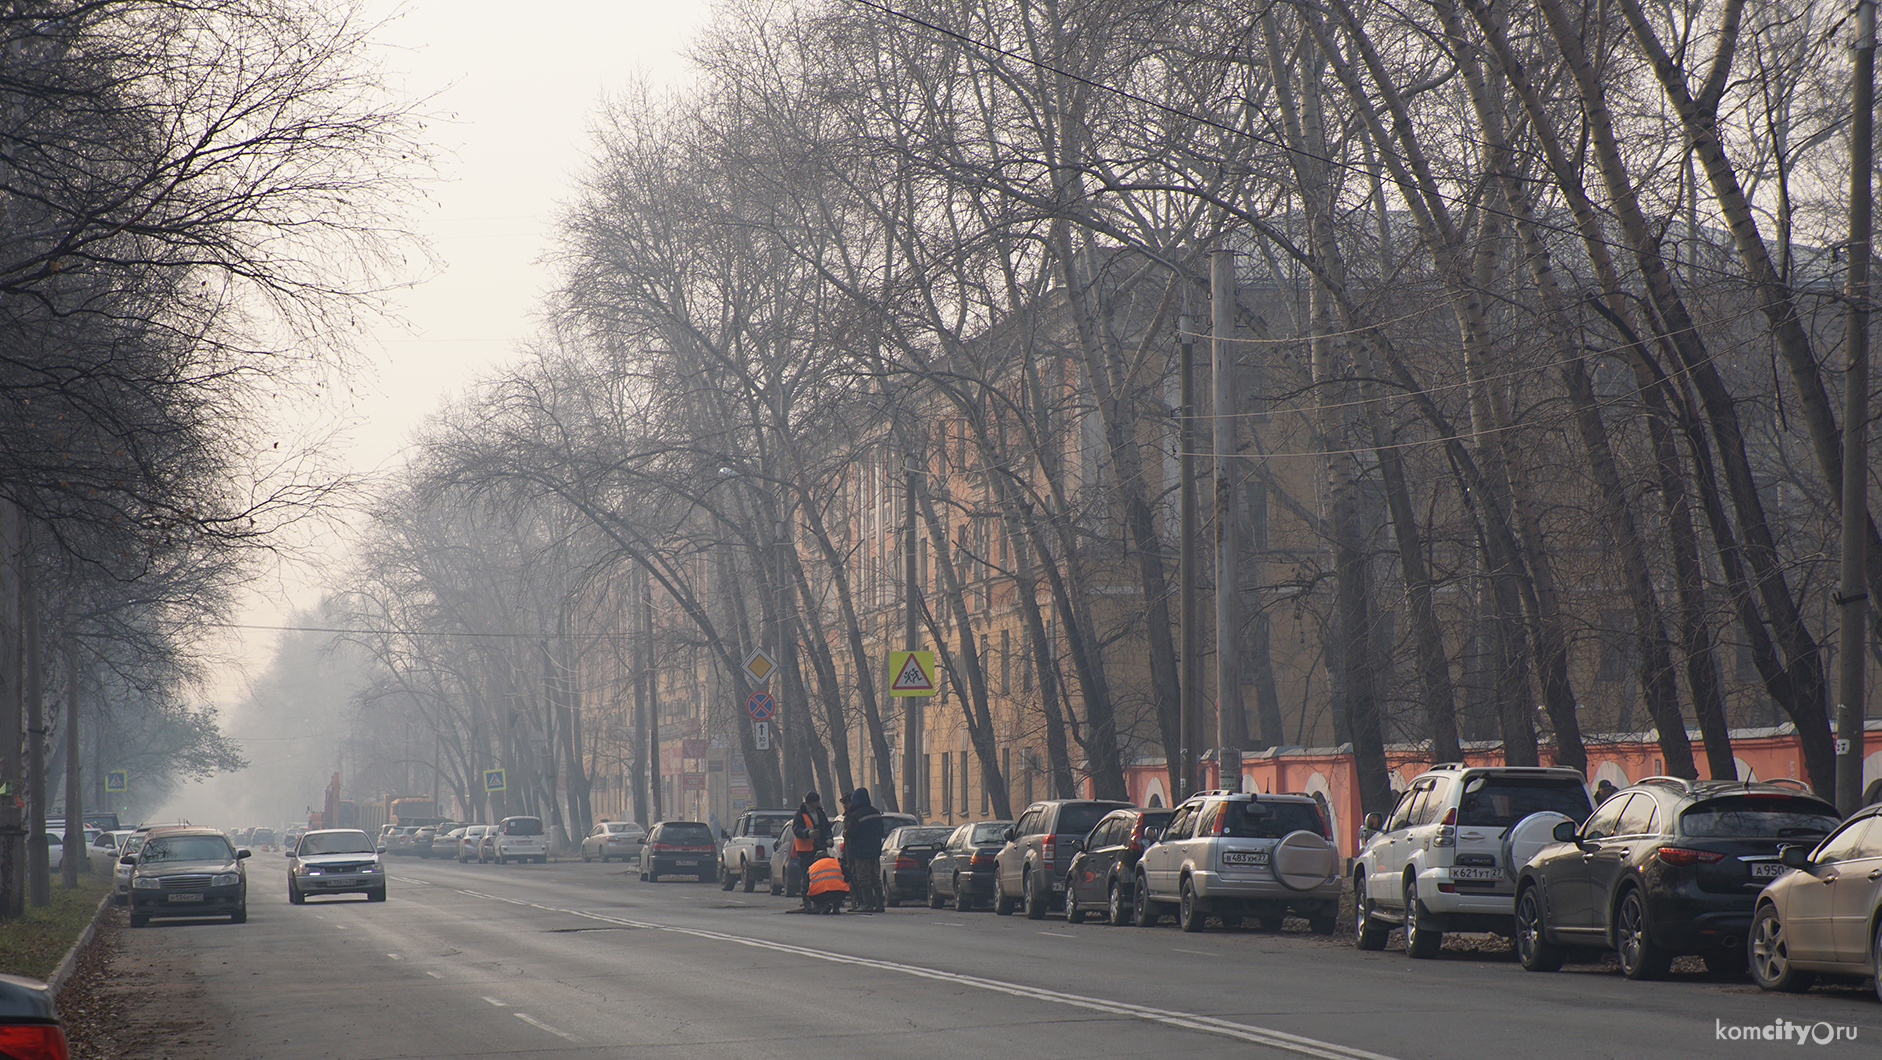
<path fill-rule="evenodd" d="M 1752 981 L 1797 992 L 1818 975 L 1874 977 L 1882 1000 L 1882 804 L 1858 810 L 1814 851 L 1786 843 L 1777 857 L 1795 872 L 1758 894 Z"/>

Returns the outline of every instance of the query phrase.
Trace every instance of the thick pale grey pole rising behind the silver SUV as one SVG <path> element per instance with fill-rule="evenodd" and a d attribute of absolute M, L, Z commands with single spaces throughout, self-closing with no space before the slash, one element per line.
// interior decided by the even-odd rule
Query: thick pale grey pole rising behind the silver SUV
<path fill-rule="evenodd" d="M 1235 520 L 1235 250 L 1208 256 L 1208 314 L 1216 397 L 1216 787 L 1240 791 L 1242 542 Z"/>

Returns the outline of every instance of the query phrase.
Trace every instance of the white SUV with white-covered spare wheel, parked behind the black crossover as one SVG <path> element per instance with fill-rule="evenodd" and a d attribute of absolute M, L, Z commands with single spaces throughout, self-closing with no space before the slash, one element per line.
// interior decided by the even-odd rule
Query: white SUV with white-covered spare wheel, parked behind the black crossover
<path fill-rule="evenodd" d="M 1592 811 L 1581 770 L 1432 766 L 1391 815 L 1366 815 L 1353 859 L 1353 943 L 1385 949 L 1404 924 L 1406 953 L 1430 958 L 1443 932 L 1511 934 L 1517 870 L 1553 842 L 1558 821 Z"/>

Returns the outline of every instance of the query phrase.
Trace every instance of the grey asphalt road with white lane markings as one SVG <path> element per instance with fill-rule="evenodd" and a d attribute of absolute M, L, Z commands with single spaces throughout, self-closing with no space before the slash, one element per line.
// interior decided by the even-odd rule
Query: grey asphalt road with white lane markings
<path fill-rule="evenodd" d="M 288 906 L 258 853 L 248 923 L 158 921 L 130 955 L 194 972 L 233 1058 L 1874 1056 L 1863 985 L 1803 996 L 1611 966 L 1528 973 L 1507 953 L 1413 962 L 1284 934 L 1071 926 L 796 900 L 619 864 L 390 859 L 391 898 Z M 1856 1041 L 1720 1041 L 1720 1026 Z"/>

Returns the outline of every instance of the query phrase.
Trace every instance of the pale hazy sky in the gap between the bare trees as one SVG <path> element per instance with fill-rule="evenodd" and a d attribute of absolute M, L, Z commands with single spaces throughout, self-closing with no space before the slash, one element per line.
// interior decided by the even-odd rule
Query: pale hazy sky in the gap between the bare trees
<path fill-rule="evenodd" d="M 585 168 L 600 102 L 640 79 L 683 87 L 683 53 L 706 24 L 710 4 L 365 2 L 367 17 L 384 21 L 375 58 L 390 85 L 429 98 L 427 136 L 440 153 L 442 177 L 427 188 L 429 209 L 410 218 L 410 230 L 429 239 L 437 269 L 393 292 L 407 329 L 375 331 L 363 371 L 348 380 L 352 393 L 327 410 L 350 424 L 341 450 L 346 463 L 371 473 L 397 467 L 429 412 L 510 360 L 529 337 L 553 279 L 538 260 Z M 271 570 L 237 621 L 279 625 L 294 608 L 311 606 L 320 595 L 320 567 L 329 565 Z M 224 706 L 239 700 L 273 644 L 269 631 L 237 631 L 226 644 L 233 661 L 218 668 L 211 695 Z M 239 717 L 226 721 L 231 734 L 245 736 Z M 273 747 L 250 751 L 265 761 Z M 196 789 L 186 802 L 207 796 Z"/>

